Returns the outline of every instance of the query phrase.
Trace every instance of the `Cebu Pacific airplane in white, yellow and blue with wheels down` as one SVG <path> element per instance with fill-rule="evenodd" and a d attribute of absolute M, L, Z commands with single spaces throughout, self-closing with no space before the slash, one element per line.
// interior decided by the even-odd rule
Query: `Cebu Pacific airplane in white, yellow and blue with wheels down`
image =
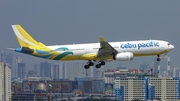
<path fill-rule="evenodd" d="M 102 36 L 99 43 L 51 45 L 36 41 L 21 25 L 12 25 L 20 48 L 16 52 L 28 54 L 49 60 L 86 60 L 85 69 L 94 66 L 101 68 L 108 61 L 130 61 L 136 56 L 157 55 L 157 61 L 161 60 L 161 54 L 167 54 L 174 46 L 162 40 L 139 40 L 123 42 L 107 42 Z"/>

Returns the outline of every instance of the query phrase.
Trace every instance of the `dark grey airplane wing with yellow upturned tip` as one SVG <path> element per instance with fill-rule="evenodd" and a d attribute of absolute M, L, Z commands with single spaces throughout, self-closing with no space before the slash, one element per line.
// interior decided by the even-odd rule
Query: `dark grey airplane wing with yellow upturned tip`
<path fill-rule="evenodd" d="M 100 39 L 100 48 L 97 56 L 104 57 L 118 53 L 118 51 L 114 49 L 107 41 L 105 41 L 103 37 L 100 36 L 99 39 Z"/>

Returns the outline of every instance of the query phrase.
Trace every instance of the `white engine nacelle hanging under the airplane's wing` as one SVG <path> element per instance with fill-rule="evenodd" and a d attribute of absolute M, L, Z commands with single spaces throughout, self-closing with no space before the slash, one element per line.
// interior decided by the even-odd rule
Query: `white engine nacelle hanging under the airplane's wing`
<path fill-rule="evenodd" d="M 133 60 L 133 58 L 134 58 L 134 55 L 131 52 L 118 53 L 113 56 L 113 59 L 117 61 L 130 61 L 130 60 Z"/>

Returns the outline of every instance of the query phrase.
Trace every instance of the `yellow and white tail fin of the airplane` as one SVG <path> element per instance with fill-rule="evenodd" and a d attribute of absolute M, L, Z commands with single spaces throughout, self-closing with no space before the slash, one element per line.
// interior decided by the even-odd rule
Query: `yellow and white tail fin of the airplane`
<path fill-rule="evenodd" d="M 21 47 L 45 46 L 43 43 L 37 42 L 32 38 L 20 25 L 12 25 L 12 28 Z"/>

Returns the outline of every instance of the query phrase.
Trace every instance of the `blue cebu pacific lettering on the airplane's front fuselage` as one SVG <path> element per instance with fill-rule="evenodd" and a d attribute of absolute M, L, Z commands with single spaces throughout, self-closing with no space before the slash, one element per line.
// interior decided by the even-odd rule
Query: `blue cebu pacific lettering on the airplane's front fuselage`
<path fill-rule="evenodd" d="M 146 47 L 159 47 L 159 42 L 155 41 L 149 41 L 145 43 L 126 43 L 126 44 L 121 44 L 120 46 L 122 49 L 128 49 L 128 48 L 146 48 Z"/>

